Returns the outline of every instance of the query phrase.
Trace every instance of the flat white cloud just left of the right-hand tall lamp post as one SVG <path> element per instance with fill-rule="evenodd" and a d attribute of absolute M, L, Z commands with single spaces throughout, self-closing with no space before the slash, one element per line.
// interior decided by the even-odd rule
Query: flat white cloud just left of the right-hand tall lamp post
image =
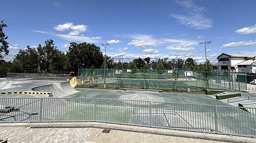
<path fill-rule="evenodd" d="M 181 50 L 183 52 L 193 52 L 195 51 L 195 48 L 192 47 L 195 46 L 193 43 L 180 43 L 173 46 L 167 46 L 166 48 L 169 50 Z"/>

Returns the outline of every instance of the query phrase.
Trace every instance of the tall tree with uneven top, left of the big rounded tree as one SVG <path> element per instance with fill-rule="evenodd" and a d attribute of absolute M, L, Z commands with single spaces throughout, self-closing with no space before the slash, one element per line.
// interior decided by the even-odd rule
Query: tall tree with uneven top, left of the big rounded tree
<path fill-rule="evenodd" d="M 57 47 L 54 46 L 54 41 L 52 39 L 47 39 L 44 41 L 45 46 L 41 46 L 41 44 L 38 45 L 37 51 L 39 53 L 39 57 L 46 67 L 44 67 L 47 72 L 49 72 L 50 64 L 52 63 L 54 54 L 56 54 Z"/>

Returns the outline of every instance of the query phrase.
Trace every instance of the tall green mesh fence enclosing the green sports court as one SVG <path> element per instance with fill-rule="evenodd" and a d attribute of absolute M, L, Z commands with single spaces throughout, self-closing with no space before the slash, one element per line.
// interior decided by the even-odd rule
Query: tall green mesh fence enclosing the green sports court
<path fill-rule="evenodd" d="M 104 85 L 112 87 L 147 87 L 147 88 L 175 88 L 178 89 L 204 90 L 206 80 L 202 71 L 189 71 L 180 69 L 178 79 L 172 70 L 153 70 L 149 69 L 145 73 L 139 69 L 106 69 L 106 79 L 104 80 L 104 69 L 78 70 L 78 84 Z M 208 76 L 208 89 L 242 91 L 247 89 L 246 74 L 238 72 L 211 71 Z"/>

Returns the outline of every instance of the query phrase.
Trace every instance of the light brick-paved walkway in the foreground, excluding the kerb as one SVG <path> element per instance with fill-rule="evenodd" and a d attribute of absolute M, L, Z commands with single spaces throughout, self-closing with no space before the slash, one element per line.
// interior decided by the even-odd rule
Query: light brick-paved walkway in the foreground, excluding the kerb
<path fill-rule="evenodd" d="M 0 127 L 0 138 L 7 138 L 8 143 L 223 143 L 120 130 L 102 131 L 100 128 Z"/>

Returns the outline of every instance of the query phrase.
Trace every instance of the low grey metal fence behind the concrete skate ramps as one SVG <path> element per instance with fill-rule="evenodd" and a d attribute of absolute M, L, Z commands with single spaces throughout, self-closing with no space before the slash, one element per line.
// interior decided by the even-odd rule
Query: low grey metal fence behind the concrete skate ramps
<path fill-rule="evenodd" d="M 59 80 L 69 81 L 73 77 L 70 74 L 26 74 L 26 73 L 8 73 L 9 79 L 20 80 Z"/>

